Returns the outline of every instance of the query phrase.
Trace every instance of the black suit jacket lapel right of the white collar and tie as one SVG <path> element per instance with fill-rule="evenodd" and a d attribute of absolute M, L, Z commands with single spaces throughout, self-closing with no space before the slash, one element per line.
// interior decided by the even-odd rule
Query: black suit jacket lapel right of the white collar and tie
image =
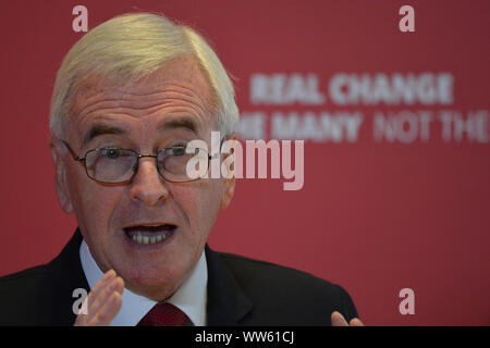
<path fill-rule="evenodd" d="M 233 326 L 252 310 L 253 302 L 219 253 L 206 245 L 208 264 L 208 325 Z"/>

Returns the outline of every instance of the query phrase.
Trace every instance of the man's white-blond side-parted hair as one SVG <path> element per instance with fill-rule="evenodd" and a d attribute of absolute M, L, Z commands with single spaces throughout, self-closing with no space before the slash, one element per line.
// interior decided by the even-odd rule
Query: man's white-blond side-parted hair
<path fill-rule="evenodd" d="M 65 135 L 76 91 L 89 80 L 126 84 L 149 76 L 167 61 L 193 55 L 211 89 L 210 112 L 222 136 L 238 122 L 233 84 L 215 51 L 194 29 L 151 13 L 128 13 L 109 20 L 84 35 L 68 52 L 57 74 L 51 99 L 50 129 Z"/>

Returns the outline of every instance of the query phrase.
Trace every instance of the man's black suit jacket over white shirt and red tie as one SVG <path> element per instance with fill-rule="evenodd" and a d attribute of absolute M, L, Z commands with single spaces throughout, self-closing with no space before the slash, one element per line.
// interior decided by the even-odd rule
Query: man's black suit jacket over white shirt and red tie
<path fill-rule="evenodd" d="M 75 288 L 89 290 L 77 229 L 46 265 L 0 277 L 0 325 L 72 325 Z M 357 316 L 339 285 L 268 262 L 206 246 L 209 325 L 330 325 L 336 310 Z"/>

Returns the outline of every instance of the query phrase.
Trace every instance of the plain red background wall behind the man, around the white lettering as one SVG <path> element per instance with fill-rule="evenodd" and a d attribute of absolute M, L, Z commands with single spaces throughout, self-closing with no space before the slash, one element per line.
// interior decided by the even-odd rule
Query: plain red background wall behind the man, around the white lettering
<path fill-rule="evenodd" d="M 242 179 L 210 237 L 215 249 L 310 272 L 343 285 L 371 325 L 490 324 L 490 145 L 372 138 L 376 110 L 482 111 L 490 138 L 489 1 L 1 1 L 0 275 L 51 260 L 76 221 L 64 215 L 48 151 L 56 72 L 89 28 L 130 11 L 158 11 L 194 25 L 237 77 L 242 111 L 360 111 L 355 142 L 305 141 L 305 185 Z M 403 4 L 415 33 L 399 30 Z M 253 74 L 316 74 L 328 95 L 341 72 L 454 76 L 450 105 L 255 105 Z M 481 130 L 481 129 L 480 129 Z M 402 315 L 399 293 L 415 291 Z M 0 309 L 1 310 L 1 309 Z"/>

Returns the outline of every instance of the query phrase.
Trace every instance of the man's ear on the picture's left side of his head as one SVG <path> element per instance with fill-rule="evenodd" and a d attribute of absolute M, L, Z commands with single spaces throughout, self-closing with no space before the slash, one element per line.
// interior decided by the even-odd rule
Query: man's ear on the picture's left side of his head
<path fill-rule="evenodd" d="M 73 204 L 66 182 L 66 165 L 64 162 L 66 154 L 69 154 L 68 149 L 63 142 L 53 138 L 49 141 L 49 148 L 54 162 L 54 187 L 58 201 L 60 202 L 61 209 L 66 214 L 70 214 L 73 212 Z"/>

